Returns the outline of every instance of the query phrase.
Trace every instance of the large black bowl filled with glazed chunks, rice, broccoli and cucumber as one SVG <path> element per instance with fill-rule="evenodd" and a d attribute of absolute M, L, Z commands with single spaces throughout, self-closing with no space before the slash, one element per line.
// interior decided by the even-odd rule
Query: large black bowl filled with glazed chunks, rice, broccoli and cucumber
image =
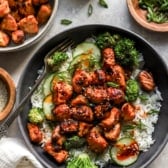
<path fill-rule="evenodd" d="M 55 50 L 64 39 L 74 44 Z M 18 118 L 37 159 L 47 168 L 147 167 L 168 139 L 162 57 L 139 35 L 109 25 L 75 27 L 44 45 L 18 87 L 19 102 L 50 53 L 50 72 Z"/>

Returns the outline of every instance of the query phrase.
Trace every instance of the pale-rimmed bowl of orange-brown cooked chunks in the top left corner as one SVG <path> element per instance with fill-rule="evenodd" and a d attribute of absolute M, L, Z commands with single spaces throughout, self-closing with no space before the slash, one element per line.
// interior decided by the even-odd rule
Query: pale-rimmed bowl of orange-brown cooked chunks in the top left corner
<path fill-rule="evenodd" d="M 0 52 L 24 49 L 52 26 L 58 0 L 1 0 Z"/>

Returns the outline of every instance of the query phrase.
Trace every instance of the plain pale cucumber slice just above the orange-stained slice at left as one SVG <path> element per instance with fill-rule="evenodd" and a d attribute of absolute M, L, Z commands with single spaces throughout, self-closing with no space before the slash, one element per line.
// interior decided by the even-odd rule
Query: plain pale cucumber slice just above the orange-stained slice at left
<path fill-rule="evenodd" d="M 51 94 L 51 81 L 54 77 L 54 74 L 50 74 L 46 77 L 43 83 L 43 94 L 46 97 L 47 95 Z"/>

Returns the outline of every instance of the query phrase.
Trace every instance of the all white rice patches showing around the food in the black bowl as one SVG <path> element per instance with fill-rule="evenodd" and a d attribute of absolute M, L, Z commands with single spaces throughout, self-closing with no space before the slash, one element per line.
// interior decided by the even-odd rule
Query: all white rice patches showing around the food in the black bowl
<path fill-rule="evenodd" d="M 92 39 L 88 39 L 88 41 L 90 41 Z M 67 51 L 67 54 L 69 56 L 68 61 L 63 64 L 59 71 L 66 71 L 68 66 L 69 66 L 69 62 L 72 60 L 72 50 L 69 48 Z M 141 55 L 140 57 L 140 62 L 141 62 L 141 67 L 143 67 L 143 57 Z M 139 74 L 140 69 L 136 69 L 131 78 L 135 79 L 137 77 L 137 75 Z M 31 103 L 33 107 L 40 107 L 42 108 L 42 103 L 43 103 L 43 98 L 44 95 L 42 93 L 42 84 L 38 87 L 38 89 L 34 92 L 34 94 L 31 97 Z M 142 91 L 141 91 L 142 92 Z M 141 93 L 140 92 L 140 93 Z M 146 152 L 148 151 L 148 149 L 151 147 L 151 145 L 155 142 L 155 139 L 153 139 L 152 134 L 154 132 L 154 127 L 155 124 L 158 121 L 158 113 L 154 113 L 154 114 L 149 114 L 149 112 L 151 110 L 156 110 L 156 111 L 160 111 L 161 108 L 161 101 L 163 100 L 161 97 L 161 93 L 159 92 L 158 88 L 156 87 L 155 90 L 150 93 L 148 96 L 148 100 L 146 100 L 145 102 L 142 101 L 140 98 L 138 98 L 133 104 L 135 105 L 135 107 L 137 107 L 136 110 L 136 117 L 134 119 L 134 122 L 140 122 L 143 126 L 144 129 L 140 130 L 138 128 L 134 128 L 133 132 L 133 136 L 135 138 L 135 140 L 137 141 L 137 143 L 139 144 L 139 149 L 140 151 Z M 43 138 L 43 142 L 42 144 L 44 144 L 45 142 L 47 142 L 50 137 L 51 137 L 51 129 L 49 128 L 49 126 L 44 122 L 43 126 L 42 126 L 42 131 L 44 132 L 44 138 Z M 124 132 L 121 132 L 120 137 L 124 137 L 126 136 L 126 134 Z M 109 150 L 109 149 L 108 149 Z M 81 152 L 87 152 L 91 155 L 91 158 L 93 159 L 93 161 L 99 165 L 100 167 L 103 167 L 109 160 L 110 160 L 110 155 L 109 155 L 109 151 L 106 151 L 104 153 L 102 153 L 102 155 L 99 158 L 95 158 L 95 155 L 92 155 L 91 151 L 88 151 L 87 148 L 81 148 L 79 150 L 71 150 L 70 152 L 78 155 Z M 92 157 L 93 156 L 93 157 Z"/>

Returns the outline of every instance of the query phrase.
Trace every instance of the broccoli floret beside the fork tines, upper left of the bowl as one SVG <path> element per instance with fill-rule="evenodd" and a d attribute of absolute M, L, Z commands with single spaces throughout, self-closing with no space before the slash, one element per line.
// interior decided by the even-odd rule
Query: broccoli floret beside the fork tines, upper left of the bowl
<path fill-rule="evenodd" d="M 47 59 L 48 65 L 53 68 L 60 66 L 64 61 L 68 59 L 68 55 L 65 52 L 55 52 L 51 57 Z"/>

